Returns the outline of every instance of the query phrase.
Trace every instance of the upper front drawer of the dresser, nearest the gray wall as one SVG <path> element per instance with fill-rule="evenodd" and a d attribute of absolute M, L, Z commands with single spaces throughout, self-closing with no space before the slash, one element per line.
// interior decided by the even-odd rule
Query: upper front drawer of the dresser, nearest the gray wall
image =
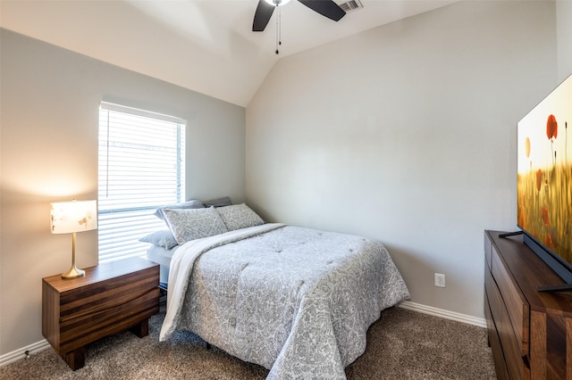
<path fill-rule="evenodd" d="M 528 355 L 528 302 L 524 299 L 519 288 L 512 280 L 509 272 L 504 267 L 496 248 L 492 245 L 491 252 L 492 277 L 499 287 L 505 312 L 507 312 L 507 325 L 513 331 L 518 345 L 519 356 Z M 508 310 L 508 311 L 507 311 Z"/>

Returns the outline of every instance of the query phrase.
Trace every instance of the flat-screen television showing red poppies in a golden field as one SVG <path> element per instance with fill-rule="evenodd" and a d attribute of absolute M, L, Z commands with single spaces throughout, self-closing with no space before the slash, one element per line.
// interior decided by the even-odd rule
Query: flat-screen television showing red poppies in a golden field
<path fill-rule="evenodd" d="M 572 75 L 518 121 L 517 138 L 517 226 L 566 283 L 538 290 L 572 290 Z"/>

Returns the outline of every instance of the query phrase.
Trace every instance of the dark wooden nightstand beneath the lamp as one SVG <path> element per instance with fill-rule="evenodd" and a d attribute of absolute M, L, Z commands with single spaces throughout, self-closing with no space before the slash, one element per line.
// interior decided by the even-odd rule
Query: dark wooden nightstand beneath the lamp
<path fill-rule="evenodd" d="M 73 370 L 84 365 L 84 345 L 127 328 L 146 336 L 159 311 L 158 264 L 134 258 L 85 270 L 42 280 L 42 334 Z"/>

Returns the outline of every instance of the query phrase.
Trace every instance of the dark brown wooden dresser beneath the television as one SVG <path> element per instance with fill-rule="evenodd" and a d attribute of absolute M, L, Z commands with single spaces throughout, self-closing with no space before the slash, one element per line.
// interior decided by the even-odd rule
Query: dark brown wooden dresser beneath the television
<path fill-rule="evenodd" d="M 572 292 L 522 235 L 484 232 L 484 314 L 499 379 L 572 379 Z"/>

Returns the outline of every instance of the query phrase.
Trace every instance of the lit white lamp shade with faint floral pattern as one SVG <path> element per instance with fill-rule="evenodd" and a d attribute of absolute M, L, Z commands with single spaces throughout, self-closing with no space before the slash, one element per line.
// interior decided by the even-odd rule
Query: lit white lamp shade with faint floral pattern
<path fill-rule="evenodd" d="M 71 234 L 97 228 L 97 201 L 51 203 L 52 234 Z"/>

